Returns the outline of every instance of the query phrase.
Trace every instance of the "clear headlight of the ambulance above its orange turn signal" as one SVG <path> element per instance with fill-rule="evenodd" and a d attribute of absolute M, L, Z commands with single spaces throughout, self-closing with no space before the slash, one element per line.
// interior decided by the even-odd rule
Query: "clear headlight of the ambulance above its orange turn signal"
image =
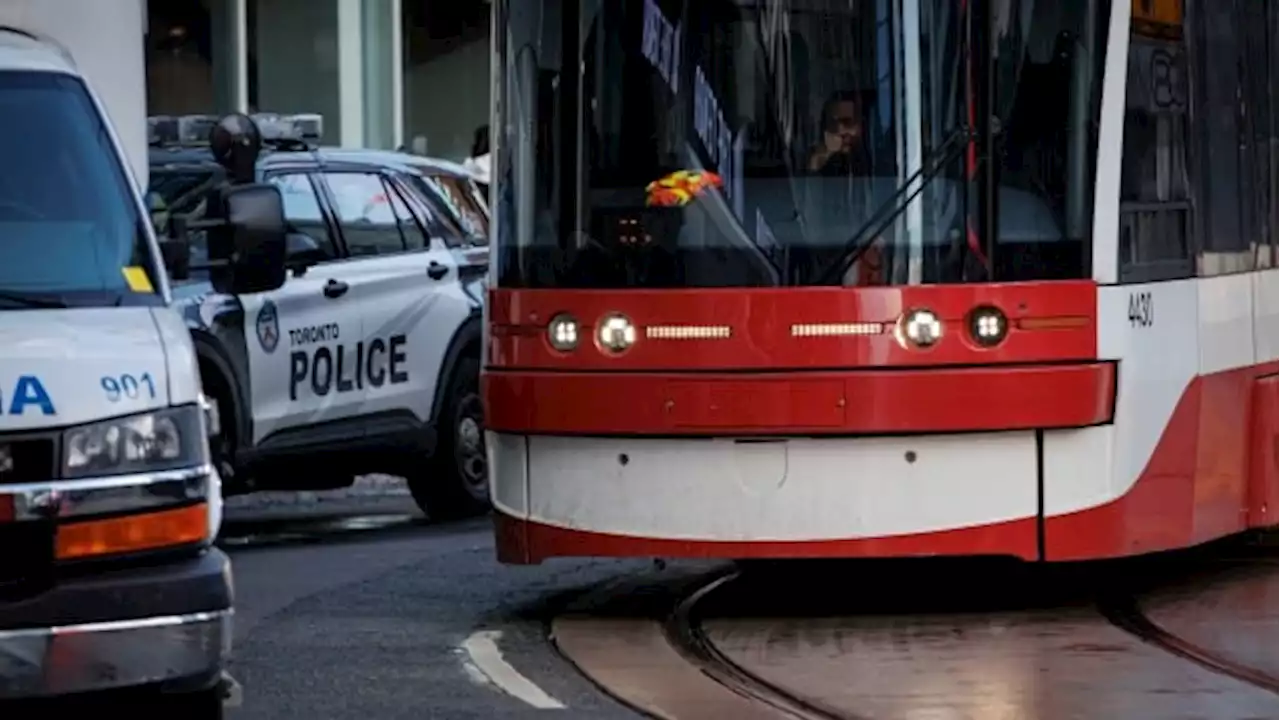
<path fill-rule="evenodd" d="M 209 441 L 198 405 L 115 418 L 63 433 L 63 478 L 175 470 L 207 461 Z"/>

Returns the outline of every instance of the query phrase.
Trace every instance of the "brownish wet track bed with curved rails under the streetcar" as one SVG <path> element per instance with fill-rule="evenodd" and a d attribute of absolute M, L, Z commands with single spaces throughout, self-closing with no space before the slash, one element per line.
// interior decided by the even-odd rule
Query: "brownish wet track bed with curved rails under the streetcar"
<path fill-rule="evenodd" d="M 681 582 L 686 596 L 698 585 Z M 663 717 L 1280 717 L 1275 685 L 1260 682 L 1280 670 L 1271 547 L 1071 568 L 767 566 L 698 601 L 687 633 L 672 632 L 659 592 L 645 596 L 650 607 L 599 597 L 557 621 L 557 642 Z"/>

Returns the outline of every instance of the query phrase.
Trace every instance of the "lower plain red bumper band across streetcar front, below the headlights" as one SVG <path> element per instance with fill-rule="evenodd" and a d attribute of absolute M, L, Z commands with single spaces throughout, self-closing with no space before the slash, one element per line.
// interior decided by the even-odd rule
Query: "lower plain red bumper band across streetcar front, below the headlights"
<path fill-rule="evenodd" d="M 680 375 L 486 372 L 489 429 L 516 434 L 865 434 L 1111 420 L 1115 365 Z"/>

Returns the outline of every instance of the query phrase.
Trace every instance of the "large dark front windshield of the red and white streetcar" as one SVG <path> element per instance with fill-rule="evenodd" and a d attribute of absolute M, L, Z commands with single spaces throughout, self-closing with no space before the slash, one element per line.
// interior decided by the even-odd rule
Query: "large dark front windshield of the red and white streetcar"
<path fill-rule="evenodd" d="M 992 279 L 1082 277 L 1105 5 L 498 3 L 495 279 L 964 282 L 975 228 Z M 980 97 L 998 145 L 975 145 Z M 992 202 L 984 163 L 1009 169 Z"/>

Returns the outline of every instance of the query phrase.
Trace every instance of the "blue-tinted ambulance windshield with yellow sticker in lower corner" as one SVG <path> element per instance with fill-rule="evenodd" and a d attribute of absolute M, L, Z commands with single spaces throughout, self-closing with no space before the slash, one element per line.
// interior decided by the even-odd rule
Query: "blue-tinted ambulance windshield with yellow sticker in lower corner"
<path fill-rule="evenodd" d="M 0 310 L 159 304 L 145 220 L 84 85 L 0 72 Z"/>

